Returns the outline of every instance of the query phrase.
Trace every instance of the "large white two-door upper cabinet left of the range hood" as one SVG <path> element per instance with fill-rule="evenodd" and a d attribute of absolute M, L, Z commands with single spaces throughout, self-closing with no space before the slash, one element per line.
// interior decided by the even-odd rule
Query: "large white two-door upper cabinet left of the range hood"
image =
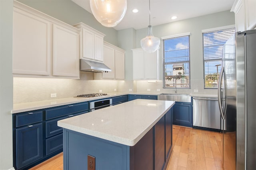
<path fill-rule="evenodd" d="M 80 30 L 14 1 L 13 74 L 79 78 Z"/>

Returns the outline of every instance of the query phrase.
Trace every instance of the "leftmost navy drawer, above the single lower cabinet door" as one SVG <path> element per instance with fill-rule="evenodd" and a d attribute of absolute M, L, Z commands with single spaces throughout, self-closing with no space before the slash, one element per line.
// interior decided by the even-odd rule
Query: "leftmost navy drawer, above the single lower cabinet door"
<path fill-rule="evenodd" d="M 42 121 L 42 111 L 27 112 L 25 114 L 16 115 L 16 127 L 29 125 Z"/>

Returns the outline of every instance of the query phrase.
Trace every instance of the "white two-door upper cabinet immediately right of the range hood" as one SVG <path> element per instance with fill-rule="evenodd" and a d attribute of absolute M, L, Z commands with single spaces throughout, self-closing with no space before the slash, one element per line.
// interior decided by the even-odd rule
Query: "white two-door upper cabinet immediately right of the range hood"
<path fill-rule="evenodd" d="M 111 69 L 111 72 L 102 72 L 103 79 L 125 79 L 124 53 L 125 51 L 123 49 L 120 49 L 110 43 L 104 42 L 103 63 Z M 96 73 L 94 78 L 101 79 L 98 76 L 99 74 L 100 73 Z"/>

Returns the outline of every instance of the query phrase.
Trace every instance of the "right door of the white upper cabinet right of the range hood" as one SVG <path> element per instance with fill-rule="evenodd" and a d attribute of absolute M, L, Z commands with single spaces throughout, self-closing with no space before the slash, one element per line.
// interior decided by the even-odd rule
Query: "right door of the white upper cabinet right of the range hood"
<path fill-rule="evenodd" d="M 115 78 L 124 80 L 124 53 L 122 51 L 115 50 Z"/>

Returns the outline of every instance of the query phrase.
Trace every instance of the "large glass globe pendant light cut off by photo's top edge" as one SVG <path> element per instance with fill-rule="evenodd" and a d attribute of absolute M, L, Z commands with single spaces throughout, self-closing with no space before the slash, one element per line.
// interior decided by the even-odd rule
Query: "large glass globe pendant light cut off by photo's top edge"
<path fill-rule="evenodd" d="M 105 27 L 116 26 L 127 9 L 127 0 L 90 0 L 92 14 Z"/>

